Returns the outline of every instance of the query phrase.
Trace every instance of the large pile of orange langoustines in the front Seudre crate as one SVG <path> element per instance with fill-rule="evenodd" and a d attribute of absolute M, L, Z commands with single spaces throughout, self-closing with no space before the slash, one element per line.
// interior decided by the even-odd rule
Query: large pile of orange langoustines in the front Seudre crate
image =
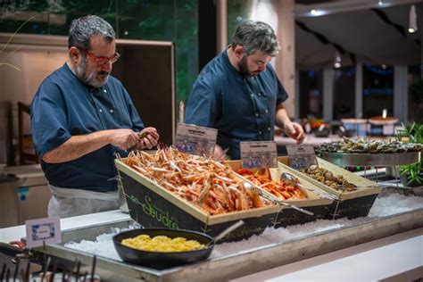
<path fill-rule="evenodd" d="M 126 164 L 210 215 L 270 205 L 255 187 L 245 188 L 233 170 L 210 159 L 163 147 L 129 153 Z"/>

